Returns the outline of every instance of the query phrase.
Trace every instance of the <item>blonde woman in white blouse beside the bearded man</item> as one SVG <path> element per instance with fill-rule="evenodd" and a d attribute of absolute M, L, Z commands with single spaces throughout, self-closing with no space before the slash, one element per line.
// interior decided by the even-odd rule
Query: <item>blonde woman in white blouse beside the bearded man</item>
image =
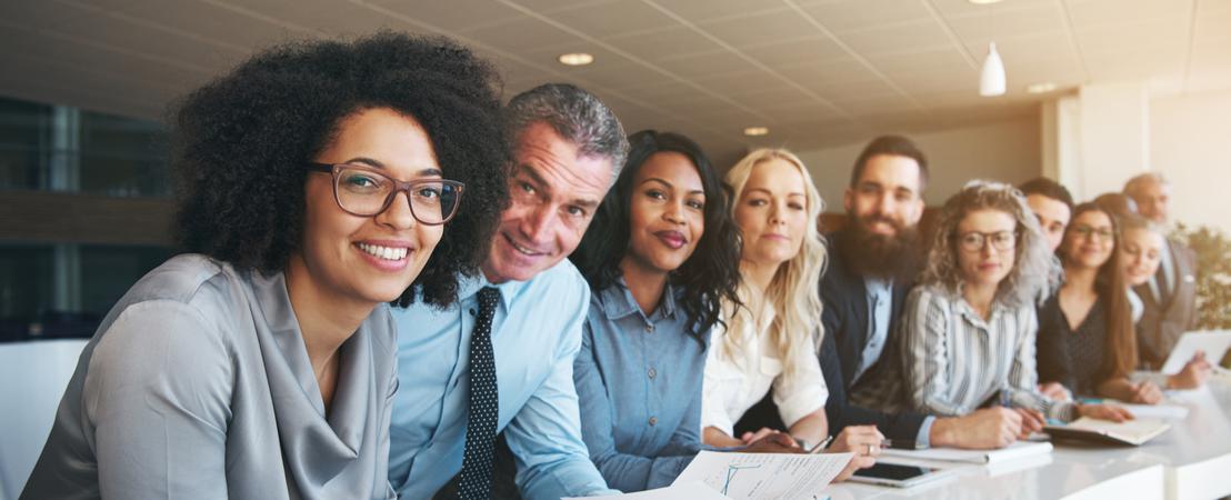
<path fill-rule="evenodd" d="M 828 390 L 816 357 L 821 300 L 816 283 L 825 246 L 816 228 L 822 202 L 803 161 L 760 149 L 726 174 L 742 235 L 740 299 L 724 307 L 705 363 L 702 437 L 713 446 L 745 446 L 778 432 L 734 435 L 735 422 L 771 390 L 787 432 L 804 450 L 826 440 Z M 830 447 L 854 451 L 869 467 L 884 440 L 875 427 L 847 427 Z"/>

